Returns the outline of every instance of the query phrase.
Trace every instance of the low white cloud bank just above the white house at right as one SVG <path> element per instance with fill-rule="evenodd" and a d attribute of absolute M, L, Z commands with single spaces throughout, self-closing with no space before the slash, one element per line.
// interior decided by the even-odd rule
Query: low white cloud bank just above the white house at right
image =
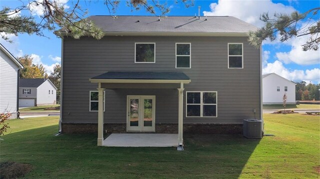
<path fill-rule="evenodd" d="M 262 73 L 276 73 L 291 81 L 313 81 L 313 83 L 320 83 L 320 69 L 314 68 L 311 70 L 289 70 L 283 66 L 283 63 L 276 60 L 273 63 L 267 63 L 262 68 Z"/>

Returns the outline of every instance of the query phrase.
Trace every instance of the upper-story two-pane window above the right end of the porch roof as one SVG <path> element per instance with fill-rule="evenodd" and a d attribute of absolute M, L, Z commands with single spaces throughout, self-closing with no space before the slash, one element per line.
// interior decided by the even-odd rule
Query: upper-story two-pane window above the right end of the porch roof
<path fill-rule="evenodd" d="M 191 43 L 175 43 L 175 68 L 191 68 Z"/>

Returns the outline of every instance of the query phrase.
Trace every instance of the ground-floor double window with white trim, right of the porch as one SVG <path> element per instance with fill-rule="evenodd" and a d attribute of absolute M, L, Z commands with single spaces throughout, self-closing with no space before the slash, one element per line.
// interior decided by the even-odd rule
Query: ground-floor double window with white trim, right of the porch
<path fill-rule="evenodd" d="M 217 117 L 216 91 L 186 92 L 186 117 Z"/>

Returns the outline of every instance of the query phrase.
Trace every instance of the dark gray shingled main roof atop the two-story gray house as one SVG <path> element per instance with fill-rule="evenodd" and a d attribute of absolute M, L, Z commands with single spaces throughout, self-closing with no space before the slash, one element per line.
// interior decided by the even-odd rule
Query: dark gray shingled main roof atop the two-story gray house
<path fill-rule="evenodd" d="M 88 17 L 104 32 L 247 33 L 257 27 L 232 16 L 108 16 Z M 207 20 L 205 20 L 207 18 Z"/>

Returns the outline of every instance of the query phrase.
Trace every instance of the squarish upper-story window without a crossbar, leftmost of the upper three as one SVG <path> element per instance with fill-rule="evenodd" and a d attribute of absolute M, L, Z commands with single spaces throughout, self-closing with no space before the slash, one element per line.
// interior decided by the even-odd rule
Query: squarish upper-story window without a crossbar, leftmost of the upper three
<path fill-rule="evenodd" d="M 155 63 L 155 43 L 134 43 L 135 63 Z"/>

